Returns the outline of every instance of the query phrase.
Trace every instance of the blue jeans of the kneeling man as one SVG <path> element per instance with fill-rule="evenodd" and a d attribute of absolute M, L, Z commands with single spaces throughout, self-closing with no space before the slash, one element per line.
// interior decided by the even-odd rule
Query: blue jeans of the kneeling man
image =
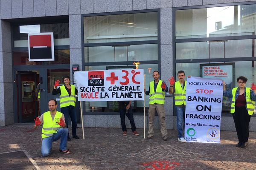
<path fill-rule="evenodd" d="M 48 156 L 52 150 L 52 142 L 61 139 L 60 150 L 67 150 L 67 128 L 58 129 L 57 133 L 48 138 L 43 138 L 41 153 L 43 156 Z"/>

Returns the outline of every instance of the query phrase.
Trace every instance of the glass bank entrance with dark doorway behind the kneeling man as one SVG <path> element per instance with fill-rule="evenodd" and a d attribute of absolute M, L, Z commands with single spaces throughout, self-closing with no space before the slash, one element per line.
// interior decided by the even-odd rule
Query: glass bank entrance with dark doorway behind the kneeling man
<path fill-rule="evenodd" d="M 15 71 L 15 123 L 34 123 L 34 119 L 48 111 L 49 99 L 56 99 L 59 107 L 59 96 L 52 95 L 56 79 L 64 84 L 63 77 L 70 75 L 65 68 L 30 68 Z"/>

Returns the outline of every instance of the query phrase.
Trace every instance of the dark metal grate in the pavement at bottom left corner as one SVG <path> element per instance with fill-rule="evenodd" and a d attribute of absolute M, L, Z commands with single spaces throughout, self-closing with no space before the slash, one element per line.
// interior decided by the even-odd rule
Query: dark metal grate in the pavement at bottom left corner
<path fill-rule="evenodd" d="M 0 153 L 0 170 L 36 170 L 34 164 L 21 151 Z"/>

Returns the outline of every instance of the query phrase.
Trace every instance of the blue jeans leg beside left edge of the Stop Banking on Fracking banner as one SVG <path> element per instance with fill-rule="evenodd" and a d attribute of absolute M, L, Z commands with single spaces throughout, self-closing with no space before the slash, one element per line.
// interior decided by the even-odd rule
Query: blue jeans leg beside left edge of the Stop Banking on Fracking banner
<path fill-rule="evenodd" d="M 177 113 L 177 130 L 178 130 L 178 138 L 184 137 L 184 123 L 185 123 L 185 107 L 177 107 L 176 113 Z M 183 124 L 183 125 L 182 125 Z"/>

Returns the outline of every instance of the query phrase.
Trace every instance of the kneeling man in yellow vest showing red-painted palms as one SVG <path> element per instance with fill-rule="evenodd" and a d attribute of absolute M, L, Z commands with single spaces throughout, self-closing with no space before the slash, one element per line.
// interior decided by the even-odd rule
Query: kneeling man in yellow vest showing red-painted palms
<path fill-rule="evenodd" d="M 43 125 L 42 128 L 42 156 L 49 156 L 52 150 L 52 142 L 61 139 L 59 151 L 64 154 L 70 154 L 67 150 L 67 133 L 64 115 L 56 110 L 57 101 L 50 99 L 48 102 L 49 111 L 43 113 L 40 118 L 36 117 L 35 129 Z"/>

